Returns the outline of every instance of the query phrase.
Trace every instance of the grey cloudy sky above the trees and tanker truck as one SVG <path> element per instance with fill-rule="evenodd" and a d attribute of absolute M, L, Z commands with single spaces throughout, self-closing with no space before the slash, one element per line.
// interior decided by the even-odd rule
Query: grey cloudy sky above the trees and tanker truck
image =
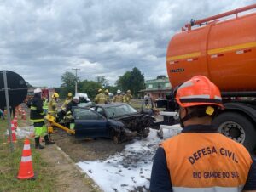
<path fill-rule="evenodd" d="M 33 86 L 58 87 L 65 71 L 113 84 L 137 67 L 145 79 L 166 75 L 166 47 L 191 18 L 255 0 L 0 1 L 0 70 Z"/>

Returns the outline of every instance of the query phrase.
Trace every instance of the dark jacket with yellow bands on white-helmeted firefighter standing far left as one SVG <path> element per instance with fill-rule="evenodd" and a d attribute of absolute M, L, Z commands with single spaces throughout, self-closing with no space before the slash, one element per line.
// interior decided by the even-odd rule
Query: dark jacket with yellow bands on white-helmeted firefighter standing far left
<path fill-rule="evenodd" d="M 33 99 L 29 102 L 28 107 L 30 108 L 30 120 L 35 122 L 44 122 L 44 109 L 43 100 L 39 93 L 36 93 Z"/>

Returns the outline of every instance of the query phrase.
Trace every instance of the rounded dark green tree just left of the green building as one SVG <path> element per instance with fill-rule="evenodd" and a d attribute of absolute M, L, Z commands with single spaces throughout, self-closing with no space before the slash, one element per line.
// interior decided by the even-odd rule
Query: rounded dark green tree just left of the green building
<path fill-rule="evenodd" d="M 119 76 L 116 85 L 123 92 L 130 89 L 131 93 L 137 97 L 138 91 L 145 88 L 144 75 L 137 67 L 134 67 L 132 71 L 126 71 L 123 76 Z"/>

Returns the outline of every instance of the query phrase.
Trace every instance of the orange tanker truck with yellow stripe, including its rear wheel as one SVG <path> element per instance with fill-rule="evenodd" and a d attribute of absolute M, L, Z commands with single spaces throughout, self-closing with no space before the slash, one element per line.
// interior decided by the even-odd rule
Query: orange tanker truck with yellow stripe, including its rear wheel
<path fill-rule="evenodd" d="M 203 20 L 191 20 L 172 37 L 166 54 L 172 88 L 196 75 L 207 76 L 218 86 L 225 110 L 213 123 L 221 133 L 250 151 L 256 145 L 254 8 L 256 4 Z M 172 101 L 172 96 L 166 101 L 169 111 L 177 110 L 175 104 L 168 104 Z"/>

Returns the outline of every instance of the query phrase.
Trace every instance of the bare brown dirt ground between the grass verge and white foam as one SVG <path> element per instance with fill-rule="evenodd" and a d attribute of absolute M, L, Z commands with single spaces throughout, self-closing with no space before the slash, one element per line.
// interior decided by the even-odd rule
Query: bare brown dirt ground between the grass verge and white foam
<path fill-rule="evenodd" d="M 105 159 L 123 150 L 125 144 L 129 144 L 113 144 L 113 141 L 107 138 L 76 139 L 61 129 L 56 129 L 51 139 L 55 144 L 47 145 L 41 151 L 44 161 L 52 167 L 51 174 L 57 177 L 56 192 L 102 191 L 75 163 Z"/>

